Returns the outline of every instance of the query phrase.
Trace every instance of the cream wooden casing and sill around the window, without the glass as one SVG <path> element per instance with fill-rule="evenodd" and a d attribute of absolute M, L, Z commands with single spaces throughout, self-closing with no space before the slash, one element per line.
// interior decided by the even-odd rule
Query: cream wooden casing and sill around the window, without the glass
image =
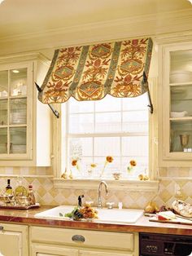
<path fill-rule="evenodd" d="M 150 79 L 151 99 L 154 105 L 154 113 L 150 117 L 149 125 L 149 178 L 147 181 L 140 180 L 107 180 L 110 188 L 116 190 L 135 190 L 157 192 L 159 189 L 159 181 L 157 179 L 157 78 Z M 99 180 L 94 179 L 62 179 L 62 115 L 61 105 L 55 104 L 55 108 L 59 111 L 60 117 L 53 117 L 53 170 L 55 188 L 76 188 L 76 189 L 93 189 L 98 188 Z M 67 118 L 67 117 L 66 117 Z M 63 131 L 64 133 L 66 131 Z"/>

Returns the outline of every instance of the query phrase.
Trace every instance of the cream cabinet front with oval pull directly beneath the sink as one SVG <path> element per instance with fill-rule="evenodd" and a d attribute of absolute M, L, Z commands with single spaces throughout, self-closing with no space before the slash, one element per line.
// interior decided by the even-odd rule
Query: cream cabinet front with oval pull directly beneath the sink
<path fill-rule="evenodd" d="M 30 227 L 31 256 L 137 256 L 138 234 Z"/>

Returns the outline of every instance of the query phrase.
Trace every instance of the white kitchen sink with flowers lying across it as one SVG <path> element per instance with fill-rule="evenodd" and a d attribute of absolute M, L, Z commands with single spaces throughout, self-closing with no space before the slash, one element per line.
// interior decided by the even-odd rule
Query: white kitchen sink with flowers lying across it
<path fill-rule="evenodd" d="M 39 214 L 35 214 L 36 218 L 51 219 L 69 219 L 64 214 L 72 212 L 74 206 L 60 205 L 50 210 L 45 210 Z M 104 223 L 135 223 L 143 214 L 143 210 L 137 209 L 96 209 L 98 210 L 98 218 L 91 219 L 93 222 Z M 62 216 L 63 215 L 63 216 Z M 90 219 L 89 219 L 90 221 Z"/>

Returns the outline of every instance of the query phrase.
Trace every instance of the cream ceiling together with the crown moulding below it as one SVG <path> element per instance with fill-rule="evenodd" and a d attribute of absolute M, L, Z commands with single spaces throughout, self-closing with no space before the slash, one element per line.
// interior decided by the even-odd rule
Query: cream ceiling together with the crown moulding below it
<path fill-rule="evenodd" d="M 4 0 L 0 4 L 0 56 L 183 31 L 192 31 L 188 0 Z"/>

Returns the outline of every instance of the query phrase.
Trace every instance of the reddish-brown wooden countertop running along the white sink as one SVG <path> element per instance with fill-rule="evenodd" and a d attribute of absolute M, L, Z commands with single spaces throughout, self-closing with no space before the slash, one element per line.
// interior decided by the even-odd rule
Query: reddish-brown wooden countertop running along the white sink
<path fill-rule="evenodd" d="M 35 218 L 34 214 L 48 210 L 55 206 L 41 206 L 30 210 L 10 210 L 0 209 L 0 222 L 46 226 L 63 227 L 76 229 L 91 229 L 108 232 L 151 232 L 162 234 L 186 235 L 192 236 L 192 225 L 181 225 L 173 223 L 153 223 L 149 217 L 142 216 L 136 223 L 94 223 L 86 221 L 56 220 Z"/>

